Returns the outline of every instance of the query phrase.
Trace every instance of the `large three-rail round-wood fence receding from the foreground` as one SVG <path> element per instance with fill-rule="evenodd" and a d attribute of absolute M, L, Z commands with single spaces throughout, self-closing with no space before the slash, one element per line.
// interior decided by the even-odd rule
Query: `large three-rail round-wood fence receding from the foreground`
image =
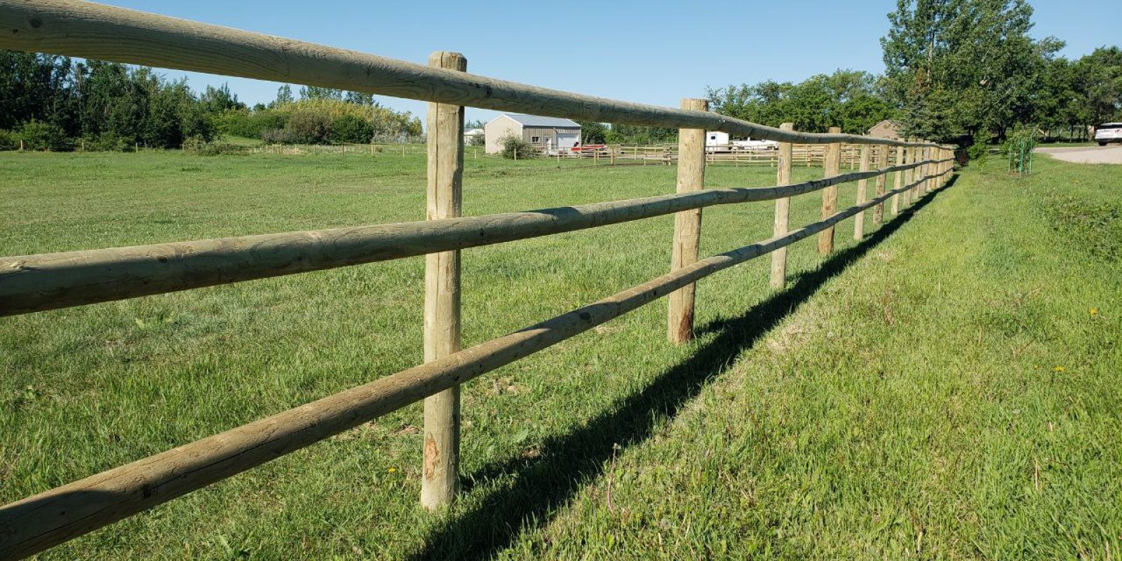
<path fill-rule="evenodd" d="M 278 275 L 426 256 L 423 365 L 0 507 L 0 558 L 20 558 L 85 534 L 397 408 L 425 402 L 422 503 L 456 497 L 459 385 L 596 325 L 670 296 L 668 335 L 692 337 L 695 283 L 772 255 L 771 284 L 785 279 L 787 247 L 817 234 L 833 251 L 834 229 L 864 211 L 881 222 L 939 187 L 953 169 L 947 147 L 771 128 L 706 111 L 687 99 L 670 109 L 546 90 L 466 73 L 462 55 L 438 52 L 429 66 L 71 0 L 0 0 L 0 48 L 340 88 L 429 101 L 427 220 L 318 231 L 0 258 L 0 315 L 131 298 Z M 679 128 L 674 194 L 460 217 L 463 107 Z M 780 142 L 776 186 L 705 190 L 703 132 Z M 794 142 L 821 151 L 824 178 L 791 183 Z M 843 147 L 843 142 L 846 147 Z M 825 145 L 825 146 L 824 146 Z M 842 174 L 843 157 L 859 169 Z M 856 158 L 856 164 L 853 164 Z M 886 186 L 894 174 L 892 188 Z M 875 182 L 868 193 L 868 182 Z M 836 210 L 837 185 L 857 200 Z M 789 230 L 791 196 L 822 192 L 821 220 Z M 775 201 L 774 236 L 699 259 L 701 209 Z M 674 214 L 671 270 L 599 302 L 469 349 L 460 349 L 460 249 Z"/>

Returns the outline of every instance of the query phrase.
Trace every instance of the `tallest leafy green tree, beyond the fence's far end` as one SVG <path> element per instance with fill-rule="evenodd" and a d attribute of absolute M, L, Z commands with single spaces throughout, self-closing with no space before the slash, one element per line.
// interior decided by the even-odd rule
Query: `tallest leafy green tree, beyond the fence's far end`
<path fill-rule="evenodd" d="M 903 132 L 946 141 L 1032 120 L 1063 43 L 1030 37 L 1031 17 L 1026 0 L 898 0 L 881 45 Z"/>

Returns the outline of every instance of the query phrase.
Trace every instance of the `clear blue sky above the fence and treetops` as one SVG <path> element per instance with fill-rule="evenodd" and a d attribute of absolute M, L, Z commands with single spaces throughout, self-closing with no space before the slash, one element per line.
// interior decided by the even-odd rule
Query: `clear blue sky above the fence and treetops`
<path fill-rule="evenodd" d="M 882 72 L 880 37 L 894 0 L 681 2 L 102 0 L 209 24 L 424 64 L 459 50 L 468 71 L 627 101 L 677 107 L 707 85 L 799 81 L 837 68 Z M 1037 37 L 1077 58 L 1122 43 L 1122 0 L 1031 0 Z M 509 34 L 509 29 L 524 33 Z M 790 45 L 791 40 L 797 45 Z M 176 77 L 184 73 L 167 71 Z M 228 82 L 247 103 L 279 84 L 187 73 L 192 88 Z M 423 120 L 425 104 L 379 98 Z M 491 111 L 469 109 L 468 119 Z"/>

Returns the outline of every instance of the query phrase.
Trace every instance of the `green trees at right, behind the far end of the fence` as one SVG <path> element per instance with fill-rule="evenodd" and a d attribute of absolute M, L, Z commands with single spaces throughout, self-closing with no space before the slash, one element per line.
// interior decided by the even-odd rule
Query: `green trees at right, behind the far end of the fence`
<path fill-rule="evenodd" d="M 709 89 L 710 108 L 811 132 L 865 134 L 893 119 L 904 136 L 960 146 L 1015 130 L 1085 138 L 1087 127 L 1122 120 L 1122 50 L 1057 56 L 1061 40 L 1029 35 L 1024 0 L 898 0 L 889 22 L 883 75 L 838 71 Z"/>

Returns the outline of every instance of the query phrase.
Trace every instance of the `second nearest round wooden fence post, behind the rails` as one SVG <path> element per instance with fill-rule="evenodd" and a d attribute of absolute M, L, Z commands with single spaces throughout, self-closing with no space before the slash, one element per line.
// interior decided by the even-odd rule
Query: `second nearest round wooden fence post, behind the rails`
<path fill-rule="evenodd" d="M 682 109 L 708 111 L 709 102 L 683 99 Z M 701 191 L 705 186 L 705 129 L 678 131 L 678 192 Z M 698 260 L 701 237 L 701 209 L 674 214 L 674 242 L 670 256 L 670 270 L 674 272 Z M 670 294 L 666 337 L 672 343 L 693 338 L 693 298 L 697 286 L 688 284 Z"/>

